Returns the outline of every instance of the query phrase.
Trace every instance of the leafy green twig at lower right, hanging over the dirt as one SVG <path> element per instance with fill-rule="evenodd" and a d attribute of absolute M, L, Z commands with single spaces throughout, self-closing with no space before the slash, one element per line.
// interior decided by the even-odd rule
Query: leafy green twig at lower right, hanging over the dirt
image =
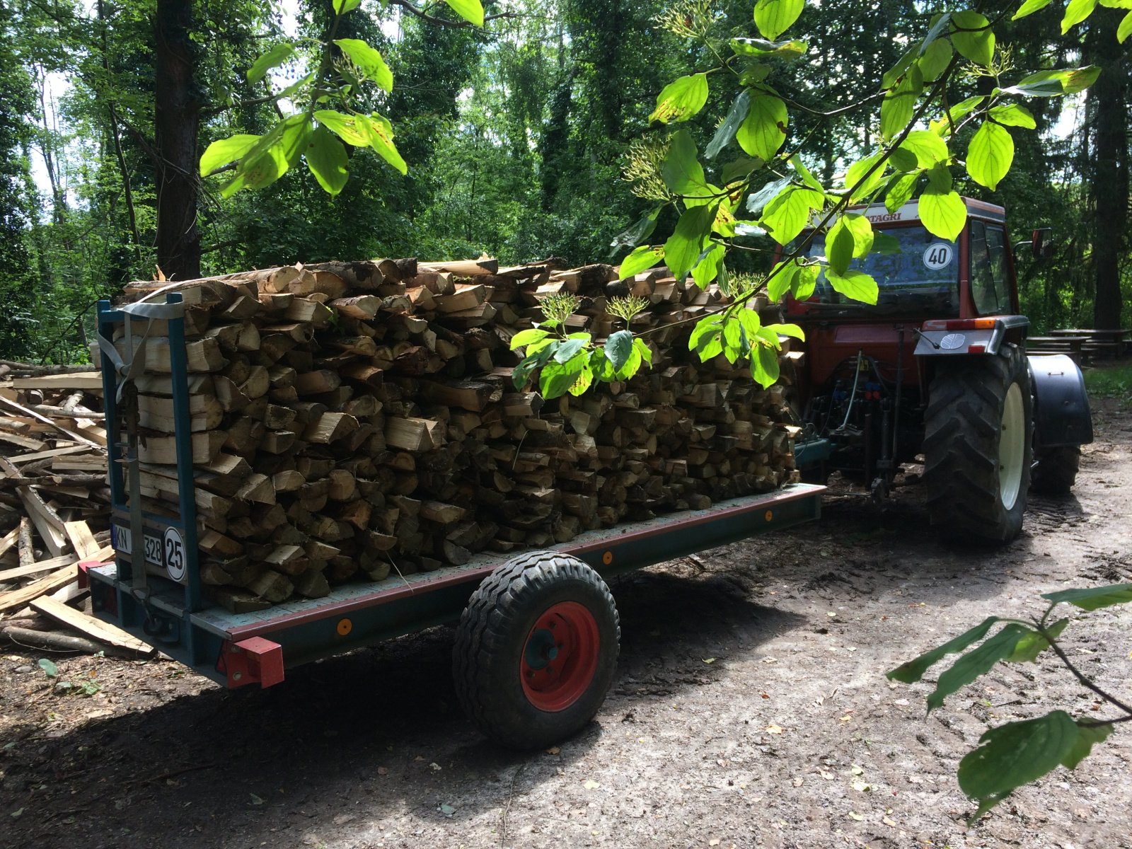
<path fill-rule="evenodd" d="M 959 763 L 959 787 L 978 803 L 968 825 L 1019 787 L 1036 781 L 1057 766 L 1075 769 L 1095 744 L 1103 743 L 1112 734 L 1115 724 L 1132 721 L 1132 705 L 1099 687 L 1077 668 L 1058 644 L 1057 638 L 1069 625 L 1069 619 L 1049 623 L 1054 609 L 1062 603 L 1089 611 L 1127 603 L 1132 601 L 1132 584 L 1063 590 L 1046 593 L 1041 598 L 1049 602 L 1049 607 L 1040 618 L 1023 621 L 988 617 L 954 640 L 887 672 L 887 677 L 893 680 L 915 684 L 947 654 L 980 643 L 940 675 L 935 689 L 927 696 L 927 710 L 931 714 L 947 696 L 990 671 L 1000 661 L 1032 663 L 1048 649 L 1082 686 L 1124 714 L 1098 721 L 1074 719 L 1065 711 L 1055 710 L 1037 719 L 1007 722 L 987 730 L 979 738 L 978 747 Z M 1000 624 L 1003 627 L 988 637 L 990 629 Z"/>

